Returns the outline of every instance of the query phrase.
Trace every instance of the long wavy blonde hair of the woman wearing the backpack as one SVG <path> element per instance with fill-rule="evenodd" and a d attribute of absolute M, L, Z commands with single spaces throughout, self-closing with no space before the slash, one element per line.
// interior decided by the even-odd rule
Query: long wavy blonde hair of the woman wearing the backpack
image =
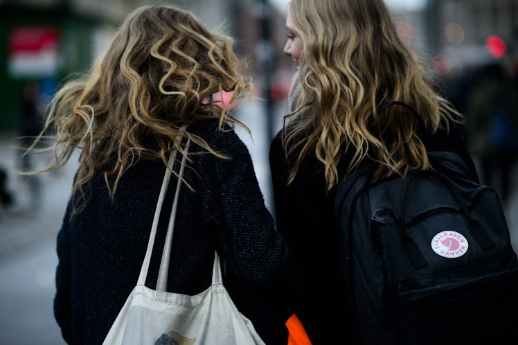
<path fill-rule="evenodd" d="M 406 103 L 431 134 L 463 119 L 436 94 L 384 1 L 292 0 L 288 11 L 303 40 L 301 102 L 285 116 L 283 130 L 287 156 L 300 150 L 288 183 L 307 154 L 323 163 L 328 191 L 339 181 L 344 152 L 352 152 L 347 172 L 366 157 L 377 161 L 375 178 L 384 170 L 404 175 L 431 168 L 418 119 L 404 107 L 382 114 L 377 107 L 389 100 Z"/>

